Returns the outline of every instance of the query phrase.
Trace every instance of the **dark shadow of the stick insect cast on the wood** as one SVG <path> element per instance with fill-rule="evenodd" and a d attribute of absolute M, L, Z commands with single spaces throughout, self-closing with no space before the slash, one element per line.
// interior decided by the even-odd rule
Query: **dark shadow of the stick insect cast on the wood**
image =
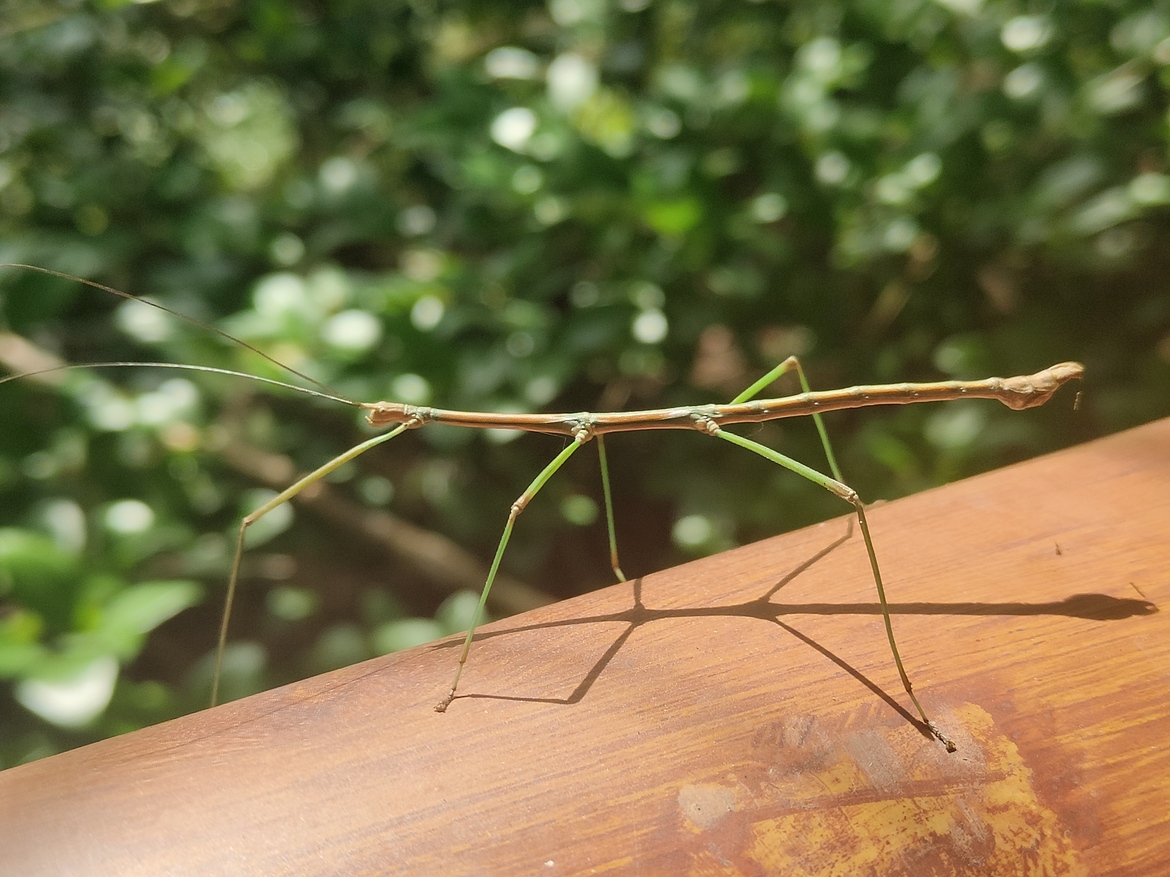
<path fill-rule="evenodd" d="M 760 596 L 755 600 L 748 600 L 742 603 L 730 603 L 727 606 L 704 606 L 694 608 L 682 608 L 682 609 L 651 609 L 642 603 L 642 580 L 641 578 L 632 580 L 632 596 L 633 606 L 628 609 L 622 609 L 620 612 L 607 613 L 604 615 L 587 615 L 578 619 L 564 619 L 560 621 L 546 621 L 536 624 L 523 624 L 519 627 L 507 628 L 504 630 L 491 630 L 488 633 L 477 633 L 474 637 L 476 642 L 484 640 L 493 640 L 498 636 L 509 636 L 512 634 L 522 634 L 531 630 L 546 630 L 550 628 L 559 627 L 572 627 L 578 624 L 597 624 L 612 621 L 626 622 L 628 627 L 621 631 L 617 640 L 605 650 L 605 654 L 599 657 L 593 667 L 585 674 L 577 686 L 566 697 L 521 697 L 511 695 L 482 695 L 482 693 L 464 693 L 456 695 L 456 700 L 462 699 L 482 699 L 482 700 L 516 700 L 521 703 L 538 703 L 538 704 L 555 704 L 559 706 L 570 706 L 577 704 L 585 698 L 590 689 L 593 686 L 608 667 L 610 662 L 617 657 L 621 647 L 625 645 L 626 641 L 633 635 L 633 633 L 652 621 L 660 621 L 663 619 L 695 619 L 695 617 L 745 617 L 745 619 L 759 619 L 760 621 L 768 621 L 777 627 L 779 627 L 785 633 L 794 636 L 805 645 L 817 650 L 824 657 L 832 661 L 845 672 L 856 679 L 859 683 L 865 685 L 873 692 L 876 697 L 881 698 L 892 710 L 894 710 L 899 716 L 909 721 L 923 737 L 932 738 L 934 733 L 917 716 L 911 714 L 906 707 L 903 707 L 897 700 L 895 700 L 885 689 L 882 689 L 878 683 L 867 677 L 863 672 L 858 670 L 855 667 L 849 664 L 845 658 L 834 654 L 832 650 L 821 645 L 819 642 L 813 640 L 807 634 L 803 634 L 790 624 L 784 623 L 780 619 L 785 615 L 881 615 L 881 605 L 876 602 L 872 603 L 776 603 L 772 602 L 772 598 L 779 592 L 785 585 L 789 585 L 798 575 L 806 572 L 814 564 L 823 560 L 834 550 L 844 545 L 853 536 L 853 524 L 849 522 L 848 531 L 845 536 L 830 543 L 827 546 L 801 561 L 791 572 L 784 575 L 779 581 L 777 581 L 771 588 L 764 592 Z M 1004 602 L 1004 603 L 979 603 L 979 602 L 959 602 L 959 603 L 937 603 L 937 602 L 907 602 L 907 603 L 888 603 L 889 612 L 892 615 L 1064 615 L 1072 619 L 1088 619 L 1092 621 L 1119 621 L 1122 619 L 1128 619 L 1137 615 L 1152 615 L 1158 612 L 1158 607 L 1150 602 L 1149 600 L 1135 600 L 1135 599 L 1122 599 L 1109 596 L 1108 594 L 1074 594 L 1064 600 L 1049 601 L 1045 603 L 1026 603 L 1026 602 Z M 456 637 L 441 643 L 435 643 L 432 648 L 434 650 L 455 648 L 461 644 L 461 641 Z"/>

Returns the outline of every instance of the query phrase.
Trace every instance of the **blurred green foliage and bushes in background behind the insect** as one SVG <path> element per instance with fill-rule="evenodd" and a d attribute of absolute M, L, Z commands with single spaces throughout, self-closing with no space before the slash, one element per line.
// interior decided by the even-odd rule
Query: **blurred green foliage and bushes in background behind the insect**
<path fill-rule="evenodd" d="M 360 400 L 725 401 L 793 353 L 819 388 L 1086 364 L 1075 415 L 830 415 L 847 479 L 888 498 L 1170 413 L 1168 89 L 1161 2 L 12 0 L 0 261 L 146 295 Z M 9 370 L 288 377 L 76 283 L 0 290 Z M 364 435 L 149 368 L 0 405 L 5 765 L 200 705 L 235 522 L 271 496 L 219 453 L 226 422 L 300 470 Z M 821 465 L 808 424 L 753 434 Z M 516 438 L 428 427 L 336 481 L 487 558 L 560 447 Z M 846 511 L 721 444 L 612 441 L 627 573 Z M 558 595 L 607 581 L 579 457 L 505 559 Z M 467 623 L 466 595 L 438 607 L 308 523 L 257 525 L 232 696 Z"/>

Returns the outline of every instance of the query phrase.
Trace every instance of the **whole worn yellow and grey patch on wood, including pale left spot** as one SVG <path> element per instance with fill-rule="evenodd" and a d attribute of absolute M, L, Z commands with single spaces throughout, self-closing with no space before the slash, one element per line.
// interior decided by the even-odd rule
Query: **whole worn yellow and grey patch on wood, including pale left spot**
<path fill-rule="evenodd" d="M 762 728 L 752 740 L 758 761 L 741 774 L 743 785 L 680 792 L 697 835 L 690 873 L 1088 873 L 1071 833 L 1037 795 L 1018 747 L 982 707 L 938 716 L 958 743 L 954 755 L 904 723 L 838 719 Z"/>

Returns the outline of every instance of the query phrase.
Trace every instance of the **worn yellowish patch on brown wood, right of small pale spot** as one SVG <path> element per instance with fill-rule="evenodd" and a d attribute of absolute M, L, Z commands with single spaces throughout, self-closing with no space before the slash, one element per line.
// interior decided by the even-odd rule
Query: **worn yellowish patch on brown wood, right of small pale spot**
<path fill-rule="evenodd" d="M 945 725 L 965 732 L 957 734 L 961 758 L 938 758 L 937 746 L 923 746 L 906 727 L 840 740 L 838 758 L 815 776 L 819 793 L 810 794 L 807 778 L 782 783 L 790 812 L 753 819 L 745 872 L 1086 875 L 1057 814 L 1039 801 L 1032 771 L 991 717 L 966 704 Z"/>

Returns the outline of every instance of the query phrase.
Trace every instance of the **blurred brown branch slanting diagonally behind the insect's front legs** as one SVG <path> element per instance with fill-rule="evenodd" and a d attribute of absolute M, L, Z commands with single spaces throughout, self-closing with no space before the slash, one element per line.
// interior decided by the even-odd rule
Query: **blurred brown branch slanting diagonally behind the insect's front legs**
<path fill-rule="evenodd" d="M 235 424 L 225 426 L 228 440 L 220 454 L 232 468 L 274 490 L 283 490 L 294 481 L 296 472 L 289 457 L 252 447 L 240 440 Z M 366 509 L 323 481 L 307 488 L 295 502 L 346 532 L 360 533 L 395 559 L 405 560 L 442 593 L 483 588 L 487 567 L 440 533 L 390 512 Z M 491 586 L 488 602 L 500 614 L 515 615 L 556 602 L 556 598 L 501 573 Z"/>

